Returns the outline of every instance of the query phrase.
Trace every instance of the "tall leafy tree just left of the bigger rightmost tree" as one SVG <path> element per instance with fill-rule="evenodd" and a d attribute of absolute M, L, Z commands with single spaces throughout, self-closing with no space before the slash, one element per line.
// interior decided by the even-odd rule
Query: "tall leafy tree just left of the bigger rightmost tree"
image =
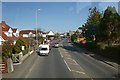
<path fill-rule="evenodd" d="M 89 9 L 90 15 L 88 16 L 87 22 L 83 25 L 83 31 L 86 33 L 86 37 L 91 39 L 91 36 L 97 35 L 100 28 L 100 21 L 102 19 L 102 14 L 97 10 L 96 7 Z"/>

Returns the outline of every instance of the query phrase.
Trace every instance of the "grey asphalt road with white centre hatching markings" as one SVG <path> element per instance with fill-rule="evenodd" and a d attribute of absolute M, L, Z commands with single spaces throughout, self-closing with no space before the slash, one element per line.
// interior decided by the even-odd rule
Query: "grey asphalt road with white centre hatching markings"
<path fill-rule="evenodd" d="M 60 41 L 62 47 L 52 48 L 48 56 L 33 53 L 22 64 L 15 65 L 13 73 L 3 78 L 115 78 L 118 70 L 101 60 L 87 55 L 82 49 Z"/>

